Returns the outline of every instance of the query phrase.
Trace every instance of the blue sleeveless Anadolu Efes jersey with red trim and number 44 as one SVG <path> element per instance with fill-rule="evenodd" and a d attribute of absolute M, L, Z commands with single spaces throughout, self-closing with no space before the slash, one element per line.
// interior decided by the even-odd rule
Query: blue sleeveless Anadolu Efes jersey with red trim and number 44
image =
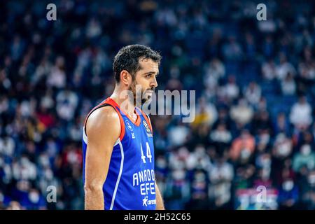
<path fill-rule="evenodd" d="M 104 100 L 92 111 L 102 106 L 112 106 L 116 110 L 120 117 L 121 127 L 120 137 L 113 146 L 109 172 L 103 186 L 104 208 L 106 210 L 154 210 L 156 204 L 154 148 L 150 120 L 144 112 L 136 108 L 137 120 L 133 122 L 111 98 Z M 83 183 L 85 182 L 87 144 L 88 137 L 84 126 Z"/>

